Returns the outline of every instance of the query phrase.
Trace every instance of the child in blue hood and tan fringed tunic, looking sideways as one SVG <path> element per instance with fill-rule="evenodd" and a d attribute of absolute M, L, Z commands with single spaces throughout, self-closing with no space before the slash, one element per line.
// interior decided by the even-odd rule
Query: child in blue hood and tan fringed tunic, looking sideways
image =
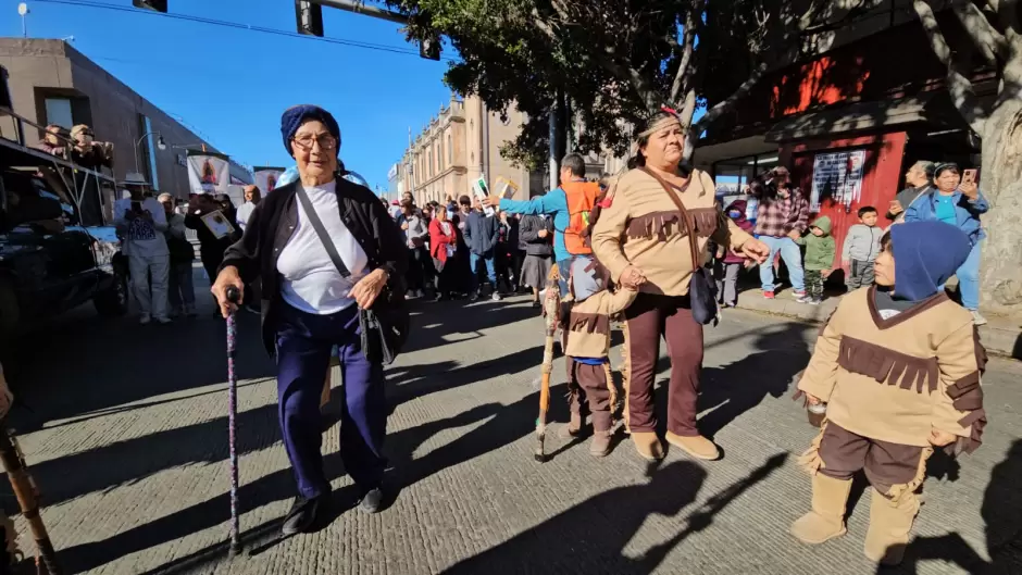
<path fill-rule="evenodd" d="M 865 555 L 893 565 L 934 448 L 980 445 L 986 354 L 972 315 L 939 288 L 969 255 L 965 235 L 918 222 L 894 226 L 882 243 L 875 285 L 845 296 L 798 384 L 810 404 L 826 404 L 826 418 L 801 460 L 812 511 L 792 534 L 810 545 L 844 535 L 851 477 L 862 470 L 873 486 Z"/>

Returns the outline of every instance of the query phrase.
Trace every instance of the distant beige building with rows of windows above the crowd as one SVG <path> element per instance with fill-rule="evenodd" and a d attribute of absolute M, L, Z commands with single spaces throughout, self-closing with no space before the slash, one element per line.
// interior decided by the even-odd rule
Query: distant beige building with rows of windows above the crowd
<path fill-rule="evenodd" d="M 519 186 L 515 199 L 529 197 L 529 177 L 500 155 L 500 147 L 518 136 L 524 114 L 509 110 L 506 120 L 486 110 L 475 96 L 451 97 L 412 145 L 398 166 L 398 186 L 410 190 L 420 204 L 471 195 L 481 175 L 493 186 L 503 176 Z"/>

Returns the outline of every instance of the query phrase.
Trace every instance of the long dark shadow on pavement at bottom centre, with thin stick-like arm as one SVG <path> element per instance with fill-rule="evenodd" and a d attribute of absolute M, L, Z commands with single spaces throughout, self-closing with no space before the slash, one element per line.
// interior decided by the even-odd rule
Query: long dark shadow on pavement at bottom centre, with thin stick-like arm
<path fill-rule="evenodd" d="M 745 479 L 712 496 L 688 515 L 681 532 L 639 558 L 626 557 L 625 546 L 650 515 L 681 518 L 678 514 L 696 500 L 706 479 L 707 473 L 701 466 L 676 461 L 653 471 L 648 484 L 603 491 L 509 541 L 453 565 L 445 574 L 651 573 L 677 545 L 709 527 L 716 513 L 770 476 L 786 458 L 786 453 L 770 458 Z"/>

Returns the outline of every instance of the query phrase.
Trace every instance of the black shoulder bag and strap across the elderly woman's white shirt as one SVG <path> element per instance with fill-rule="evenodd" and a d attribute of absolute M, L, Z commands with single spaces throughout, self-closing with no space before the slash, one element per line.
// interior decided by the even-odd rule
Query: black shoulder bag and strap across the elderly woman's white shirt
<path fill-rule="evenodd" d="M 297 196 L 298 201 L 301 202 L 302 208 L 306 210 L 309 223 L 312 224 L 312 228 L 315 229 L 316 236 L 320 237 L 320 242 L 323 243 L 323 247 L 326 249 L 326 253 L 331 257 L 331 261 L 334 262 L 334 266 L 337 267 L 337 272 L 341 277 L 351 277 L 351 272 L 348 271 L 348 266 L 345 265 L 344 260 L 340 259 L 340 254 L 337 253 L 334 240 L 332 240 L 326 233 L 326 228 L 323 227 L 323 222 L 315 213 L 315 208 L 309 200 L 306 189 L 300 185 L 298 186 Z M 362 353 L 369 361 L 379 361 L 383 362 L 384 365 L 394 363 L 394 360 L 401 351 L 401 346 L 408 338 L 407 314 L 398 314 L 406 317 L 403 322 L 381 321 L 381 314 L 375 310 L 377 305 L 385 305 L 386 302 L 389 301 L 389 287 L 384 287 L 379 296 L 376 297 L 376 301 L 373 302 L 373 308 L 367 310 L 359 308 L 359 332 L 362 340 Z"/>

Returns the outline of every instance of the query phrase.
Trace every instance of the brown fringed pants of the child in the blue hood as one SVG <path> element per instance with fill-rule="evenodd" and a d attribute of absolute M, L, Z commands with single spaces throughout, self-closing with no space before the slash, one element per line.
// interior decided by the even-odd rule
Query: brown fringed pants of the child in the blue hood
<path fill-rule="evenodd" d="M 850 479 L 865 471 L 870 485 L 881 493 L 892 486 L 911 483 L 919 474 L 923 449 L 856 435 L 827 422 L 820 441 L 820 473 L 835 479 Z"/>

